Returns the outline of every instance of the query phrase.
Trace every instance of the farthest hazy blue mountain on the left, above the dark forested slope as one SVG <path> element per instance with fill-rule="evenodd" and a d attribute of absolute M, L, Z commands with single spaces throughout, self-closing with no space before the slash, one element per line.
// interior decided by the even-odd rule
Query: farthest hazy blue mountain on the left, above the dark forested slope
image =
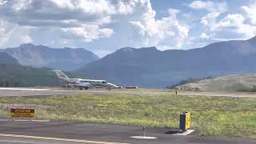
<path fill-rule="evenodd" d="M 49 67 L 54 70 L 77 70 L 81 66 L 99 59 L 96 54 L 82 48 L 57 49 L 34 46 L 30 43 L 2 51 L 16 58 L 23 66 Z"/>

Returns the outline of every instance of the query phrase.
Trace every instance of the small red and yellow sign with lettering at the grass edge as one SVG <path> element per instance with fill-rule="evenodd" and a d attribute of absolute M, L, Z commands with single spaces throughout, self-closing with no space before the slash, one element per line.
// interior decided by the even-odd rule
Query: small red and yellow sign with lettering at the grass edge
<path fill-rule="evenodd" d="M 34 118 L 34 109 L 14 109 L 10 110 L 11 118 Z"/>

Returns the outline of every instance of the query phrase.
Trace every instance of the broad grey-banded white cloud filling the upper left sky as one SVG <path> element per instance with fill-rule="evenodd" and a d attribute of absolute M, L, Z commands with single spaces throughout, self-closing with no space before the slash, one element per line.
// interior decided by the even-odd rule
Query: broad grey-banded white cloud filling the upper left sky
<path fill-rule="evenodd" d="M 15 25 L 9 27 L 9 31 L 17 26 L 50 30 L 54 27 L 55 31 L 66 33 L 64 36 L 81 38 L 84 42 L 113 34 L 112 29 L 103 26 L 111 22 L 114 13 L 114 6 L 107 0 L 20 0 L 0 4 L 1 18 Z M 32 42 L 27 36 L 22 39 Z"/>

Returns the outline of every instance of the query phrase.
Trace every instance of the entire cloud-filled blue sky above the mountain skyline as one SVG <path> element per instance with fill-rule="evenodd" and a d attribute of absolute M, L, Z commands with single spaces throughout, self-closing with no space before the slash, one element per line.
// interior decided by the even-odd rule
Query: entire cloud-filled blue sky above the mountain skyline
<path fill-rule="evenodd" d="M 256 0 L 0 0 L 0 47 L 187 50 L 256 35 Z"/>

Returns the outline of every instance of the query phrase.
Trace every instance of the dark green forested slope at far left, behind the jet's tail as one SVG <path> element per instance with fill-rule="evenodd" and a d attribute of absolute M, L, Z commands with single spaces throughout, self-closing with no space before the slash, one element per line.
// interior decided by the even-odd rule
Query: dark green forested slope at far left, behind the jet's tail
<path fill-rule="evenodd" d="M 0 86 L 61 86 L 50 68 L 22 66 L 6 52 L 0 52 Z M 83 74 L 67 73 L 70 78 L 83 78 Z"/>

